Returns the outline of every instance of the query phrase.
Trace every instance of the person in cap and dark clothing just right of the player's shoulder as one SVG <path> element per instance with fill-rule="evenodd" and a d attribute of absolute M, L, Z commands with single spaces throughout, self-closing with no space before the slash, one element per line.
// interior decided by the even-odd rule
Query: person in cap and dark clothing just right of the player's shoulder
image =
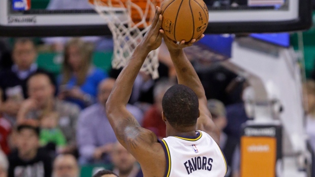
<path fill-rule="evenodd" d="M 223 129 L 227 126 L 226 110 L 224 104 L 219 100 L 209 99 L 207 106 L 211 113 L 214 124 L 220 130 L 219 146 L 223 151 L 229 166 L 228 172 L 225 176 L 238 177 L 240 163 L 238 140 L 234 137 L 228 136 L 223 132 Z"/>

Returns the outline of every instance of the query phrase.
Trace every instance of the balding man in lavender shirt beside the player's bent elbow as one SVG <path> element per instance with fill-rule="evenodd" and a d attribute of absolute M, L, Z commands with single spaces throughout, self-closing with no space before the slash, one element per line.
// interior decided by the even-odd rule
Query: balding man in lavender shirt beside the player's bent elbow
<path fill-rule="evenodd" d="M 99 86 L 99 103 L 83 110 L 78 121 L 77 141 L 80 153 L 80 163 L 110 162 L 107 154 L 117 141 L 115 133 L 109 124 L 105 113 L 105 104 L 114 87 L 115 80 L 108 78 Z M 142 112 L 128 104 L 127 109 L 142 123 Z"/>

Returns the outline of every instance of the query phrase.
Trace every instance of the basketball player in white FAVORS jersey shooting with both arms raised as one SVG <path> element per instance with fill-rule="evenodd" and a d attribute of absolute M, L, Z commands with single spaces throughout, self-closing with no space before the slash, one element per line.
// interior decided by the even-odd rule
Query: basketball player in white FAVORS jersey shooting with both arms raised
<path fill-rule="evenodd" d="M 217 145 L 219 132 L 207 109 L 201 82 L 182 50 L 204 35 L 180 44 L 164 37 L 179 83 L 163 97 L 162 117 L 166 123 L 166 138 L 159 141 L 152 131 L 142 128 L 126 109 L 134 81 L 146 56 L 161 45 L 164 30 L 161 29 L 160 14 L 161 9 L 157 7 L 150 30 L 116 80 L 106 104 L 109 122 L 121 145 L 140 163 L 145 177 L 223 177 L 227 165 Z"/>

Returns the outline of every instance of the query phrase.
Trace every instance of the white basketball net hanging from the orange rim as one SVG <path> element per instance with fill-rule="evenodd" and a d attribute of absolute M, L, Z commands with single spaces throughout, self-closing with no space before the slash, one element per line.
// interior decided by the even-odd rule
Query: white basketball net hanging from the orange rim
<path fill-rule="evenodd" d="M 125 66 L 136 46 L 149 30 L 158 0 L 89 0 L 94 9 L 105 19 L 113 35 L 113 68 Z M 159 78 L 157 67 L 159 50 L 151 51 L 145 59 L 141 71 Z"/>

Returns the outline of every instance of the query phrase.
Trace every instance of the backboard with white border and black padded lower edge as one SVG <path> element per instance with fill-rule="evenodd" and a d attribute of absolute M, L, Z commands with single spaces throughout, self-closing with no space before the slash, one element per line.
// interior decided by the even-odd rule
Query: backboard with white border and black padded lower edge
<path fill-rule="evenodd" d="M 82 0 L 86 1 L 85 8 L 69 6 L 61 9 L 49 7 L 47 9 L 48 3 L 51 5 L 52 1 L 57 0 L 45 0 L 46 6 L 39 7 L 37 3 L 43 1 L 0 1 L 0 36 L 111 34 L 106 22 L 88 5 L 88 0 Z M 311 25 L 311 0 L 205 0 L 205 2 L 209 9 L 209 25 L 205 33 L 295 31 L 307 29 Z M 121 10 L 117 10 L 116 14 L 121 16 Z"/>

